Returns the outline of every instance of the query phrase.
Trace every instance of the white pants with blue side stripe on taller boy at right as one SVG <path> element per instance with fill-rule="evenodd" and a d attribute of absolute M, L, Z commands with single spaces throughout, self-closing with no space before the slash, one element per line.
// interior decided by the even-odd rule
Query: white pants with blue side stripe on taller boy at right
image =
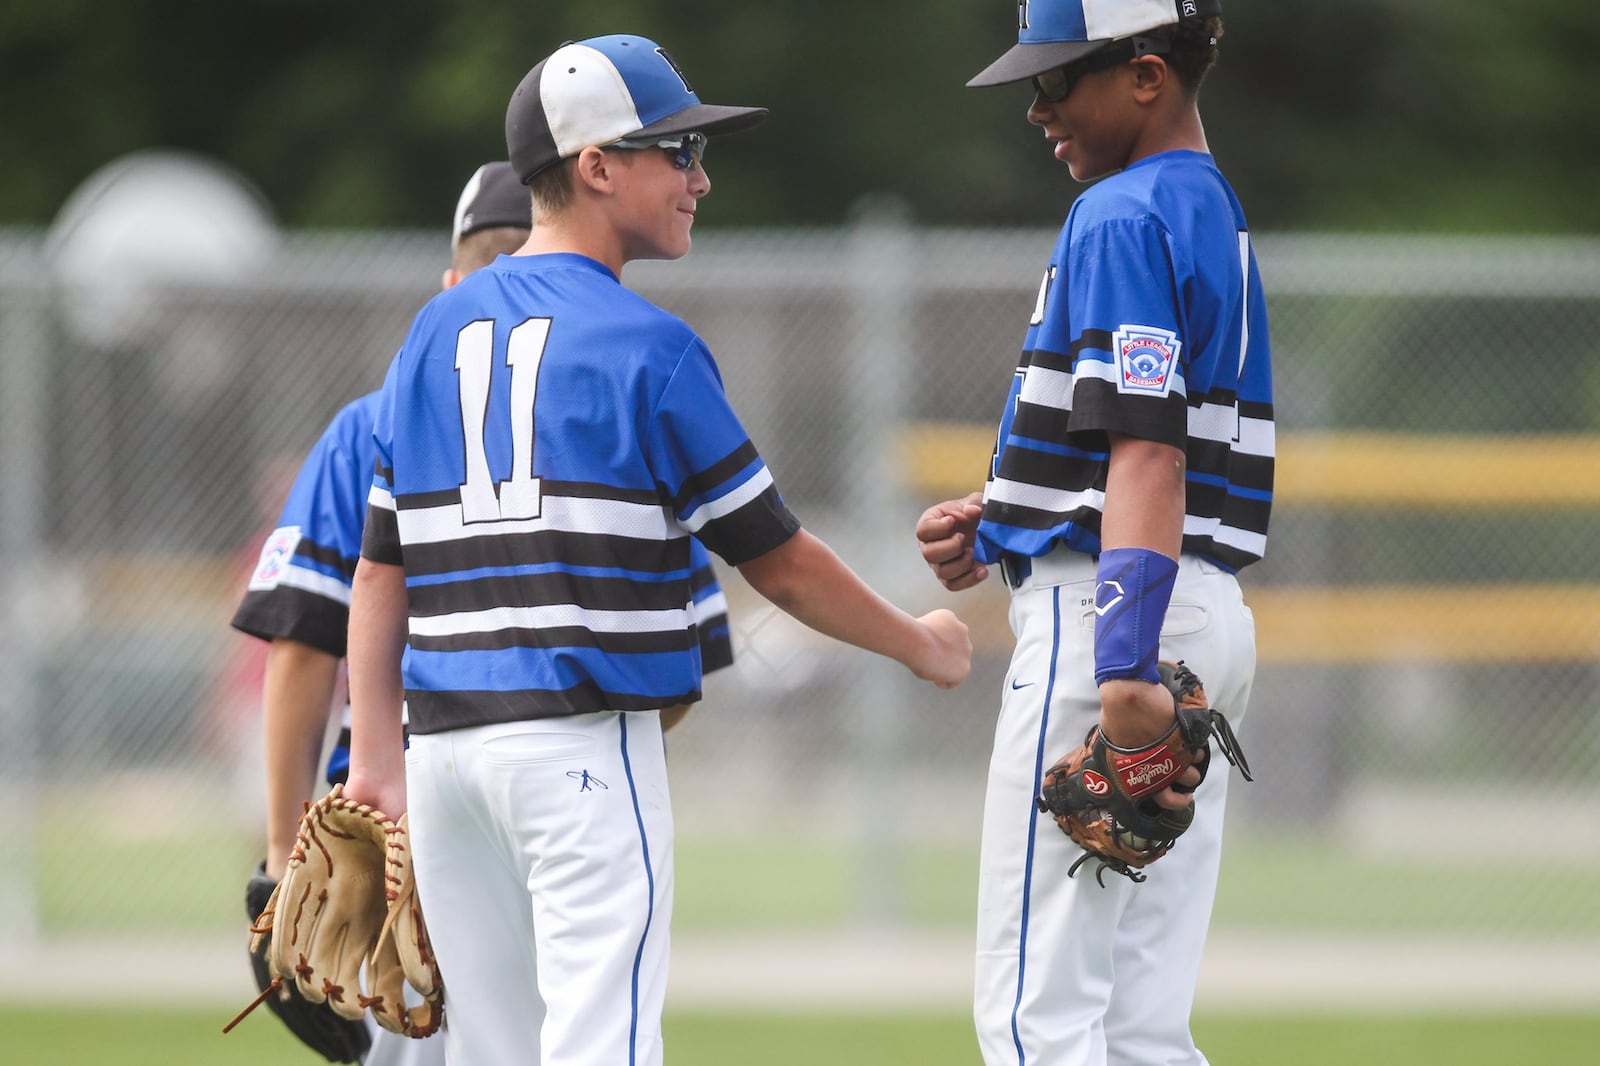
<path fill-rule="evenodd" d="M 1194 826 L 1134 884 L 1096 864 L 1034 804 L 1043 771 L 1099 720 L 1094 562 L 1056 551 L 1013 589 L 1016 650 L 1000 698 L 978 880 L 974 1020 L 986 1066 L 1205 1066 L 1189 1032 L 1234 770 L 1213 744 Z M 1237 579 L 1184 555 L 1162 627 L 1237 728 L 1256 671 Z"/>

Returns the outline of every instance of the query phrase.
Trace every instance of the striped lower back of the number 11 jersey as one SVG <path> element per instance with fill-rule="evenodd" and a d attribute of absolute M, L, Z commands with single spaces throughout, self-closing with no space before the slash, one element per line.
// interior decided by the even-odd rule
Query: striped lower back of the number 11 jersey
<path fill-rule="evenodd" d="M 726 600 L 709 568 L 691 565 L 694 541 L 669 512 L 558 495 L 574 488 L 594 487 L 547 479 L 541 519 L 494 528 L 453 520 L 459 503 L 400 499 L 387 511 L 374 488 L 368 527 L 389 525 L 403 544 L 413 728 L 693 703 L 699 677 L 731 661 Z M 752 512 L 765 512 L 768 539 L 746 541 L 762 554 L 798 528 L 779 509 L 762 493 L 725 520 L 755 527 Z M 632 535 L 603 531 L 624 515 Z M 408 533 L 419 539 L 405 543 Z M 714 611 L 706 619 L 696 595 Z M 504 688 L 506 679 L 520 680 Z"/>

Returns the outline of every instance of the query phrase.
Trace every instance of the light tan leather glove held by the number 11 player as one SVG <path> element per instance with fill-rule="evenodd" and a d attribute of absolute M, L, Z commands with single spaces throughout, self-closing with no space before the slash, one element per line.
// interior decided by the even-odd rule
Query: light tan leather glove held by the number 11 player
<path fill-rule="evenodd" d="M 443 1023 L 443 983 L 416 903 L 405 818 L 395 823 L 344 799 L 341 784 L 306 808 L 283 880 L 251 932 L 251 951 L 266 946 L 274 978 L 261 999 L 290 986 L 350 1021 L 371 1010 L 378 1024 L 410 1037 L 432 1036 Z M 370 996 L 362 992 L 363 962 Z M 406 983 L 422 997 L 416 1007 L 403 999 Z"/>

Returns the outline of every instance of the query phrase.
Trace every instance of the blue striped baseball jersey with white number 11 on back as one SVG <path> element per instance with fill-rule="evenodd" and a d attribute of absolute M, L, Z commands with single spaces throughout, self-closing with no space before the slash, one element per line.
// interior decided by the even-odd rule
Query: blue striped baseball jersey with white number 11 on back
<path fill-rule="evenodd" d="M 798 522 L 706 344 L 579 254 L 501 256 L 389 368 L 362 551 L 405 570 L 413 731 L 699 698 L 691 535 Z"/>

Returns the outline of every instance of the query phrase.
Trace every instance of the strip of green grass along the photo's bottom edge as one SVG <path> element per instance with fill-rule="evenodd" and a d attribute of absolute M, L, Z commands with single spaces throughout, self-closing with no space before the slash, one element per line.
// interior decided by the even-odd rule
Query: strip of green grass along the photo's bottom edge
<path fill-rule="evenodd" d="M 222 1036 L 216 1010 L 3 1008 L 16 1066 L 312 1066 L 262 1012 Z M 960 1015 L 675 1013 L 667 1061 L 688 1066 L 974 1066 Z M 1594 1061 L 1600 1015 L 1214 1015 L 1195 1036 L 1216 1066 L 1536 1066 Z"/>

